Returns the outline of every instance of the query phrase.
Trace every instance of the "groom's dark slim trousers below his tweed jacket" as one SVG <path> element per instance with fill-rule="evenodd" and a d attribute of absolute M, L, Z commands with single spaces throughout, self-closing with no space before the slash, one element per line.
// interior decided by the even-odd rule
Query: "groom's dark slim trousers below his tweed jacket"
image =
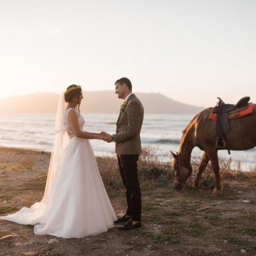
<path fill-rule="evenodd" d="M 138 180 L 138 164 L 140 155 L 118 155 L 118 166 L 122 177 L 127 200 L 126 214 L 133 221 L 141 220 L 141 191 Z"/>

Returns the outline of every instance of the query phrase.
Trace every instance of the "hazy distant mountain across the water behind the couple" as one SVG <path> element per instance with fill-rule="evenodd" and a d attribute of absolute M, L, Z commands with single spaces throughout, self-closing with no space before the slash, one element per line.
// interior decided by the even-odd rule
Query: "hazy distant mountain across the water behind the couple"
<path fill-rule="evenodd" d="M 145 113 L 198 113 L 204 109 L 177 102 L 161 93 L 135 93 L 141 100 Z M 81 104 L 83 113 L 116 113 L 123 100 L 113 91 L 84 92 Z M 0 99 L 0 113 L 55 113 L 60 95 L 34 93 Z"/>

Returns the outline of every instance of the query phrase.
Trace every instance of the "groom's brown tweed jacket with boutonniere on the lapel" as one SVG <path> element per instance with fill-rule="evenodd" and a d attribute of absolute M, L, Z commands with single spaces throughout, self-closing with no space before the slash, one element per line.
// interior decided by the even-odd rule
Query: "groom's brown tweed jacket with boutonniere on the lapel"
<path fill-rule="evenodd" d="M 116 122 L 116 154 L 137 155 L 141 153 L 140 130 L 143 122 L 144 109 L 140 100 L 132 94 L 127 104 L 120 109 Z"/>

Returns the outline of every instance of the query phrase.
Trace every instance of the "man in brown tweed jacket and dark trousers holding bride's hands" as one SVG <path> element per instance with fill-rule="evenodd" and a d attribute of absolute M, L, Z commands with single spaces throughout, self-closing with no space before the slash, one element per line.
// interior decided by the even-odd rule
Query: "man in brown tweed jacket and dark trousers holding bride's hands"
<path fill-rule="evenodd" d="M 124 99 L 116 122 L 116 134 L 106 134 L 107 142 L 115 141 L 118 166 L 126 189 L 127 211 L 115 223 L 125 223 L 119 230 L 141 227 L 141 191 L 138 181 L 138 164 L 141 153 L 140 130 L 144 109 L 132 93 L 131 81 L 122 77 L 115 83 L 115 93 Z"/>

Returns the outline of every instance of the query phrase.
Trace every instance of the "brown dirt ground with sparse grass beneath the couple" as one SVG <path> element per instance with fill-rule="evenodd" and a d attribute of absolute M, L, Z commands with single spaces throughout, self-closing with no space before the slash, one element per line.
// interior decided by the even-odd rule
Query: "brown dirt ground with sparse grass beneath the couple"
<path fill-rule="evenodd" d="M 0 215 L 42 199 L 48 164 L 49 154 L 0 148 Z M 107 190 L 122 214 L 124 190 Z M 256 255 L 255 182 L 225 180 L 220 197 L 206 189 L 179 193 L 168 180 L 143 182 L 141 192 L 141 228 L 62 239 L 0 220 L 0 255 Z"/>

